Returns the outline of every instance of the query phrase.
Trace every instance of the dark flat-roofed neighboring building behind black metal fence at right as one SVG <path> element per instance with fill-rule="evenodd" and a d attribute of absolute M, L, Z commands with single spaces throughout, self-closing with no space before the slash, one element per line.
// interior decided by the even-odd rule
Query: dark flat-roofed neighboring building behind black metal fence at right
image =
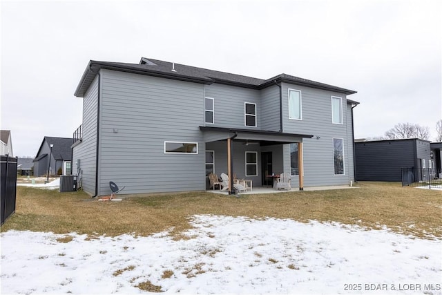
<path fill-rule="evenodd" d="M 430 142 L 416 138 L 354 142 L 356 180 L 401 181 L 402 168 L 430 168 Z"/>

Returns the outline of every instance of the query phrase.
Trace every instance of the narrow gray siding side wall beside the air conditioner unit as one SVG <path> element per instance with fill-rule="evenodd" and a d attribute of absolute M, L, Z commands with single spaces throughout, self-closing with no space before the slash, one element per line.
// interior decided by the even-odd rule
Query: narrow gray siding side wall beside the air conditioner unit
<path fill-rule="evenodd" d="M 73 148 L 73 174 L 77 175 L 81 169 L 83 189 L 90 194 L 95 194 L 98 84 L 97 76 L 84 95 L 83 140 Z"/>

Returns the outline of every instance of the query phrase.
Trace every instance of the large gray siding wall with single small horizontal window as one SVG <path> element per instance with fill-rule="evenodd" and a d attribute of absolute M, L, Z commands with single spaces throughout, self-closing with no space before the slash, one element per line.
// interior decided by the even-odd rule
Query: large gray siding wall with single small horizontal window
<path fill-rule="evenodd" d="M 204 190 L 201 84 L 102 70 L 99 194 Z M 215 105 L 216 105 L 215 97 Z M 198 154 L 164 153 L 164 142 L 196 142 Z"/>

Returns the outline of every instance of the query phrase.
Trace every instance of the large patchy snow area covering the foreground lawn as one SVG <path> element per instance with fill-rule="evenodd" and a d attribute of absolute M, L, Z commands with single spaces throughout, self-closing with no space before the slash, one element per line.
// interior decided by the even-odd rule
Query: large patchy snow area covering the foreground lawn
<path fill-rule="evenodd" d="M 1 294 L 140 294 L 147 280 L 168 294 L 442 294 L 442 240 L 337 222 L 191 223 L 182 240 L 1 233 Z"/>

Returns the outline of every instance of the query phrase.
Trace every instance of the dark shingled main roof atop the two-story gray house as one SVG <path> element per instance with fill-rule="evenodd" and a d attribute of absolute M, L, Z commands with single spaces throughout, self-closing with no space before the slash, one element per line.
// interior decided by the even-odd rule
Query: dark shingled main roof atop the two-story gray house
<path fill-rule="evenodd" d="M 301 86 L 309 86 L 312 88 L 336 91 L 338 93 L 345 93 L 347 95 L 356 93 L 356 91 L 352 91 L 349 89 L 315 82 L 287 74 L 280 74 L 276 77 L 271 77 L 270 79 L 258 79 L 243 75 L 220 72 L 218 70 L 209 70 L 206 68 L 186 66 L 184 64 L 175 64 L 169 61 L 146 59 L 145 57 L 142 57 L 139 64 L 93 60 L 89 61 L 89 64 L 84 71 L 83 77 L 81 77 L 81 80 L 77 86 L 75 96 L 84 96 L 90 84 L 93 82 L 95 75 L 97 75 L 99 70 L 102 68 L 108 70 L 119 70 L 128 73 L 136 73 L 140 75 L 177 79 L 201 84 L 219 83 L 245 88 L 262 89 L 274 85 L 275 82 L 287 82 Z"/>

